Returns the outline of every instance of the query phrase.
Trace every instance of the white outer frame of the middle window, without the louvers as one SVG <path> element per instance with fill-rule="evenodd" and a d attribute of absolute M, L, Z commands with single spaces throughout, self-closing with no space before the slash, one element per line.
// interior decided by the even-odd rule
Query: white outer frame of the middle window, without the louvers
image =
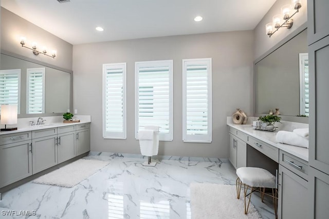
<path fill-rule="evenodd" d="M 169 68 L 169 133 L 161 132 L 159 128 L 159 141 L 171 142 L 173 141 L 173 60 L 161 60 L 161 61 L 145 61 L 135 62 L 135 139 L 138 140 L 139 130 L 139 69 L 145 67 L 163 67 L 168 65 Z"/>

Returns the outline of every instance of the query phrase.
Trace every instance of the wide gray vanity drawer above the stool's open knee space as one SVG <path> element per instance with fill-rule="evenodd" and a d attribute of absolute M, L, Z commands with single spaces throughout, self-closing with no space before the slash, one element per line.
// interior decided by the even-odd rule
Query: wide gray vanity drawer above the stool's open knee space
<path fill-rule="evenodd" d="M 262 142 L 250 136 L 248 137 L 248 145 L 262 152 L 263 154 L 271 158 L 273 161 L 279 163 L 279 148 L 273 147 L 265 142 Z"/>

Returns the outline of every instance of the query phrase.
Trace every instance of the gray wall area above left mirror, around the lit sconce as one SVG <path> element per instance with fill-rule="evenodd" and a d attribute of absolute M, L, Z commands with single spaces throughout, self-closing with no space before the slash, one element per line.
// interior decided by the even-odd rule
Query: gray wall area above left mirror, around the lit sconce
<path fill-rule="evenodd" d="M 1 49 L 72 70 L 71 44 L 2 7 L 0 21 Z M 51 58 L 43 54 L 34 55 L 31 50 L 22 48 L 20 44 L 22 36 L 26 37 L 26 46 L 28 47 L 31 47 L 32 42 L 36 42 L 41 50 L 43 46 L 48 48 L 49 53 L 52 49 L 57 50 L 56 58 Z"/>

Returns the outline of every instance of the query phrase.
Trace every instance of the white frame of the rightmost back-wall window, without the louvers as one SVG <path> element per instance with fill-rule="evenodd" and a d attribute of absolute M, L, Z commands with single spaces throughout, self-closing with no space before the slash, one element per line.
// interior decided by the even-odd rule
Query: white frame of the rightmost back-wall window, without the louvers
<path fill-rule="evenodd" d="M 207 65 L 207 134 L 187 134 L 187 66 Z M 212 142 L 212 58 L 182 59 L 182 141 L 186 143 Z"/>

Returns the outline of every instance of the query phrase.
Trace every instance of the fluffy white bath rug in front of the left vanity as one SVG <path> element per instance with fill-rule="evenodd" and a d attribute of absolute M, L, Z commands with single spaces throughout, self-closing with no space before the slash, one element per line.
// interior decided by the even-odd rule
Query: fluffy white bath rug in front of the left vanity
<path fill-rule="evenodd" d="M 64 167 L 47 173 L 33 182 L 40 184 L 74 187 L 85 178 L 108 165 L 108 161 L 80 159 Z"/>

